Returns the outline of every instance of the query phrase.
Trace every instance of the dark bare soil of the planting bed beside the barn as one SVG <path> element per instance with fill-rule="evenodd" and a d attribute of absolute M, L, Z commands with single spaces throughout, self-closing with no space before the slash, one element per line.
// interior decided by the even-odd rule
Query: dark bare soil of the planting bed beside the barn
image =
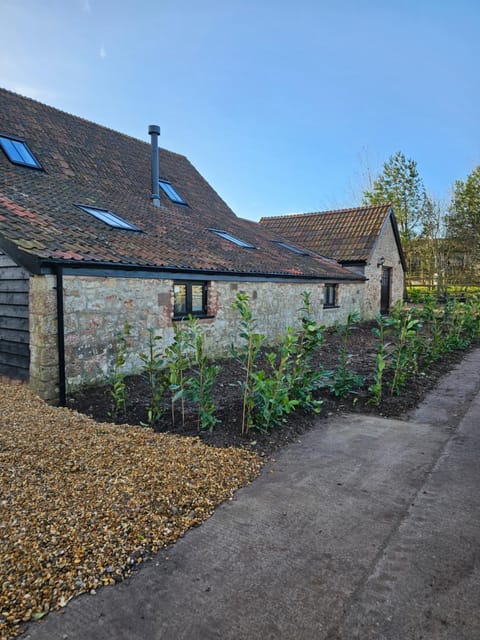
<path fill-rule="evenodd" d="M 419 375 L 412 375 L 399 396 L 392 396 L 385 391 L 382 403 L 374 406 L 368 402 L 368 386 L 372 383 L 375 363 L 377 339 L 372 333 L 373 323 L 357 326 L 349 340 L 351 354 L 350 368 L 365 377 L 364 384 L 346 398 L 337 398 L 328 388 L 317 392 L 317 398 L 322 400 L 320 414 L 296 411 L 288 416 L 287 421 L 275 427 L 268 433 L 251 430 L 247 436 L 241 435 L 242 400 L 240 380 L 242 370 L 239 364 L 232 360 L 221 360 L 218 364 L 221 371 L 217 377 L 214 400 L 217 407 L 216 417 L 219 423 L 212 433 L 198 431 L 195 408 L 185 406 L 185 421 L 182 424 L 180 403 L 176 405 L 175 424 L 172 425 L 170 405 L 166 404 L 165 414 L 155 426 L 156 431 L 170 432 L 186 436 L 198 436 L 209 445 L 216 447 L 244 447 L 256 451 L 264 456 L 270 456 L 279 448 L 298 438 L 305 431 L 312 428 L 318 419 L 326 418 L 335 413 L 358 412 L 394 417 L 402 416 L 416 407 L 426 393 L 435 385 L 437 380 L 450 371 L 461 360 L 464 351 L 447 353 L 443 358 L 433 363 L 428 370 Z M 325 332 L 325 342 L 322 345 L 318 362 L 324 369 L 336 370 L 341 338 L 335 330 Z M 391 379 L 391 373 L 385 375 L 385 382 Z M 68 398 L 70 408 L 92 416 L 98 421 L 113 421 L 138 425 L 147 422 L 148 387 L 142 376 L 126 378 L 128 407 L 127 414 L 112 418 L 112 395 L 110 386 L 91 387 L 83 389 Z M 385 386 L 386 388 L 386 386 Z"/>

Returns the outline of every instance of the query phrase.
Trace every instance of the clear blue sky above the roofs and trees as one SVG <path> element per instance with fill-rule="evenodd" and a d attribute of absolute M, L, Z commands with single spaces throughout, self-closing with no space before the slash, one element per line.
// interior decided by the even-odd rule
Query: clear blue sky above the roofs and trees
<path fill-rule="evenodd" d="M 478 0 L 0 0 L 0 84 L 185 154 L 240 216 L 480 164 Z"/>

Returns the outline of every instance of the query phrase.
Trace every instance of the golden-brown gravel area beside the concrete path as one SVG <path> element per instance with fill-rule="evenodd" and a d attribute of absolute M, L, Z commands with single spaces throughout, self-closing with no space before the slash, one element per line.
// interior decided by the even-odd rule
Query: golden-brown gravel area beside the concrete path
<path fill-rule="evenodd" d="M 114 584 L 251 481 L 259 458 L 96 423 L 0 387 L 0 638 Z"/>

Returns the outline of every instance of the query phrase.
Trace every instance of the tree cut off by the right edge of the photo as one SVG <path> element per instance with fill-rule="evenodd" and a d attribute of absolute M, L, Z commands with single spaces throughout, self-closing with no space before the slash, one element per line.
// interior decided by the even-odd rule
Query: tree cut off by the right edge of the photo
<path fill-rule="evenodd" d="M 454 184 L 447 236 L 456 248 L 463 284 L 468 284 L 480 267 L 480 166 Z"/>

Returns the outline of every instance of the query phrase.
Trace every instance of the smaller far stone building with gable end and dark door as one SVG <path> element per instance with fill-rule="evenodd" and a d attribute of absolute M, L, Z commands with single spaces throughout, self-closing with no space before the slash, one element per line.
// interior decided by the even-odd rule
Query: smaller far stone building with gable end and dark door
<path fill-rule="evenodd" d="M 391 205 L 272 216 L 260 224 L 365 276 L 364 318 L 388 313 L 403 298 L 406 264 Z"/>

